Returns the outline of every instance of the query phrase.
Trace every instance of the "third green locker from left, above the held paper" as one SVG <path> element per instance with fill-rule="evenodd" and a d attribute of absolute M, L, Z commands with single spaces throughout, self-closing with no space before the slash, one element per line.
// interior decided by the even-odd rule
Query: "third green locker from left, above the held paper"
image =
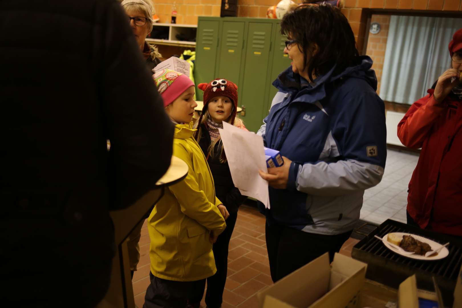
<path fill-rule="evenodd" d="M 256 132 L 267 114 L 267 74 L 272 41 L 273 24 L 249 22 L 245 52 L 243 84 L 239 98 L 245 115 L 242 119 L 251 132 Z"/>

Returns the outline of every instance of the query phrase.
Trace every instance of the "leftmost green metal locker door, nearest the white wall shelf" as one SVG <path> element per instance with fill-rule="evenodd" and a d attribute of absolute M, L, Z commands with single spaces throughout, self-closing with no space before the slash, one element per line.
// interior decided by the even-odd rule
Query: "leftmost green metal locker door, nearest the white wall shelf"
<path fill-rule="evenodd" d="M 196 60 L 194 81 L 196 84 L 196 99 L 202 100 L 202 91 L 197 88 L 202 82 L 209 82 L 215 78 L 215 64 L 219 43 L 219 18 L 207 18 L 197 25 Z"/>

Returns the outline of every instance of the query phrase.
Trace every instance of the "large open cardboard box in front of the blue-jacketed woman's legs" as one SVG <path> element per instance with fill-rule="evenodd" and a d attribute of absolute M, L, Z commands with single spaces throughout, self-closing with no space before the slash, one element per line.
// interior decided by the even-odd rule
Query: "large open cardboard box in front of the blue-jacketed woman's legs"
<path fill-rule="evenodd" d="M 257 294 L 259 308 L 356 308 L 367 264 L 323 254 Z"/>

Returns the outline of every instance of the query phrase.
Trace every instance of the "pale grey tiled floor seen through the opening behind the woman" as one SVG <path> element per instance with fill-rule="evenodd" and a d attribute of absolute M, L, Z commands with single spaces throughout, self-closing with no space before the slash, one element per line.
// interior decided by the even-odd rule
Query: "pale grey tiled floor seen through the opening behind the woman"
<path fill-rule="evenodd" d="M 362 220 L 380 224 L 388 218 L 406 223 L 407 185 L 418 154 L 388 149 L 382 181 L 364 193 Z"/>

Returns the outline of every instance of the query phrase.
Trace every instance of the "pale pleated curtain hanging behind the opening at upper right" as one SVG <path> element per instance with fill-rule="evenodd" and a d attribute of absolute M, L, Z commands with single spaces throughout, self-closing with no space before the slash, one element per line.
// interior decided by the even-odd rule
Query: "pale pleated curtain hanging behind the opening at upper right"
<path fill-rule="evenodd" d="M 391 16 L 380 97 L 412 104 L 451 67 L 448 44 L 462 18 Z"/>

